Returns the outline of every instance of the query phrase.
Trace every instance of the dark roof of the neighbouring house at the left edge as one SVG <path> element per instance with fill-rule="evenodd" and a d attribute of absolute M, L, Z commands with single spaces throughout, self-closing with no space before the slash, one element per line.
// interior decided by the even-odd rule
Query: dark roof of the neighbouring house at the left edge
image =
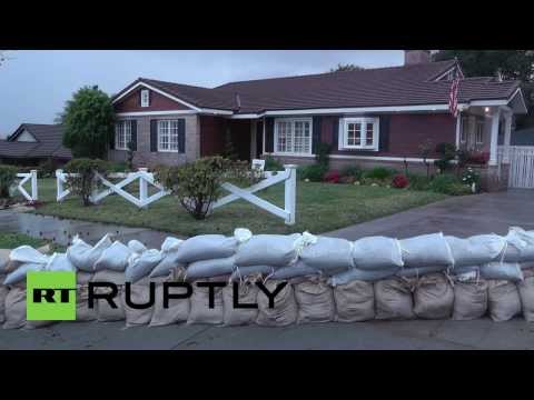
<path fill-rule="evenodd" d="M 22 132 L 29 132 L 36 141 L 17 141 Z M 22 123 L 7 140 L 0 140 L 0 157 L 6 158 L 72 158 L 61 144 L 60 124 Z"/>

